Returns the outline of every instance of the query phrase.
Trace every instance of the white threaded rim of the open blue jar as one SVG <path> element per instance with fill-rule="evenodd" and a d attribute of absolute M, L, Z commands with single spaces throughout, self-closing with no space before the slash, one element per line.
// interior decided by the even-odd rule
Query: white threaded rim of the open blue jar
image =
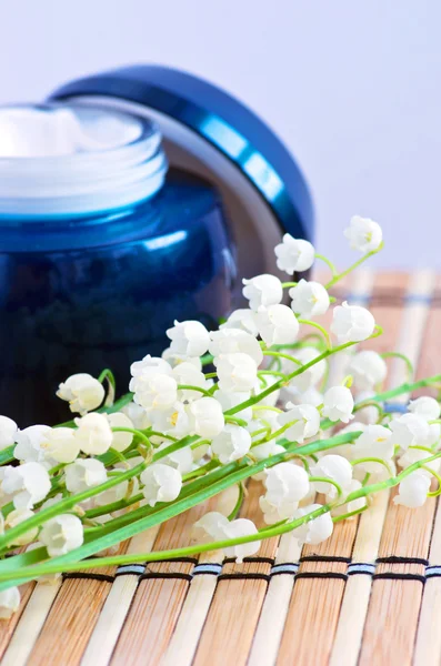
<path fill-rule="evenodd" d="M 111 212 L 146 201 L 161 189 L 168 163 L 160 130 L 152 121 L 99 105 L 49 103 L 14 108 L 36 108 L 43 112 L 68 109 L 82 119 L 87 114 L 94 115 L 94 122 L 100 117 L 113 121 L 127 119 L 138 123 L 139 134 L 98 150 L 0 157 L 0 215 L 41 220 L 46 214 Z"/>

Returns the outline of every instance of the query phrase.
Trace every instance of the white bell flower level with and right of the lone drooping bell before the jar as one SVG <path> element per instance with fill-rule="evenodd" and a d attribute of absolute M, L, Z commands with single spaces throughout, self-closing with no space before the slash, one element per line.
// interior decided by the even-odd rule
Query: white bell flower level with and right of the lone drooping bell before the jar
<path fill-rule="evenodd" d="M 150 372 L 132 377 L 129 390 L 136 403 L 151 410 L 168 410 L 178 400 L 178 382 L 169 374 Z"/>

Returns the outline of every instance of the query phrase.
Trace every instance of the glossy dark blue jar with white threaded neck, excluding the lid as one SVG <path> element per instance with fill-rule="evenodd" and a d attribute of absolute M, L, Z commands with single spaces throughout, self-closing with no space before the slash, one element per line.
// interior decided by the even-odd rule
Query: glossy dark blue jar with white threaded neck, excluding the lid
<path fill-rule="evenodd" d="M 66 418 L 54 391 L 68 375 L 111 367 L 123 392 L 174 319 L 214 327 L 231 310 L 217 190 L 167 172 L 157 128 L 134 120 L 117 148 L 0 158 L 0 413 L 21 427 Z"/>

